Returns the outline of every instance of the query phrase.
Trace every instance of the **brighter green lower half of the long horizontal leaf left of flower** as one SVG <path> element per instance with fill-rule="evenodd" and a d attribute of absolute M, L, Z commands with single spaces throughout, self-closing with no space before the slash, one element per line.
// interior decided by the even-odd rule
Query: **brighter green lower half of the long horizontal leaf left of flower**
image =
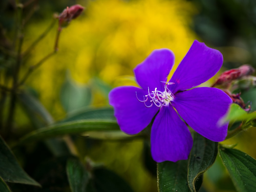
<path fill-rule="evenodd" d="M 77 120 L 66 123 L 58 123 L 49 127 L 35 130 L 25 135 L 20 142 L 29 142 L 41 140 L 50 137 L 61 136 L 65 134 L 82 134 L 86 131 L 107 131 L 119 130 L 116 121 L 113 120 Z"/>

